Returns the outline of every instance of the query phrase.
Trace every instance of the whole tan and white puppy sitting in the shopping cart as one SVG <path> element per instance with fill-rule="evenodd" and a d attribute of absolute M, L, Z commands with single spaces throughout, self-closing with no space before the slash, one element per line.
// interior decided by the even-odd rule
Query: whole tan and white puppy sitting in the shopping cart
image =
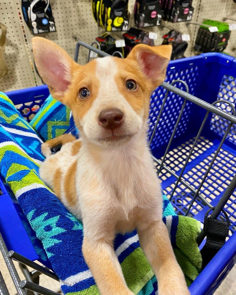
<path fill-rule="evenodd" d="M 53 42 L 33 38 L 36 67 L 52 96 L 67 105 L 80 139 L 42 145 L 40 176 L 83 220 L 83 256 L 102 295 L 131 295 L 113 249 L 116 233 L 137 229 L 159 295 L 187 295 L 162 221 L 160 181 L 147 143 L 149 99 L 165 79 L 171 46 L 137 45 L 126 59 L 84 66 Z M 62 144 L 51 155 L 51 148 Z"/>

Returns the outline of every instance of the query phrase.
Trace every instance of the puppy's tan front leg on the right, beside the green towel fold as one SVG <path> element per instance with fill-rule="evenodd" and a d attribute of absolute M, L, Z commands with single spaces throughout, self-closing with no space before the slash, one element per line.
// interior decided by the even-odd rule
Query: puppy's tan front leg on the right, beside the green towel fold
<path fill-rule="evenodd" d="M 167 228 L 162 220 L 138 230 L 143 249 L 158 281 L 159 295 L 189 295 L 184 274 L 178 265 Z"/>

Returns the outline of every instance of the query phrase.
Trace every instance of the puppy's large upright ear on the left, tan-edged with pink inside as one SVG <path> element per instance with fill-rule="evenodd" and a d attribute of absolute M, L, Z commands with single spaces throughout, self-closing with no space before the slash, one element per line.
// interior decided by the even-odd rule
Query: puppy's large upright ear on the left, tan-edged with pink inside
<path fill-rule="evenodd" d="M 42 37 L 32 38 L 35 65 L 53 98 L 65 103 L 64 94 L 71 83 L 73 69 L 79 67 L 54 42 Z"/>

